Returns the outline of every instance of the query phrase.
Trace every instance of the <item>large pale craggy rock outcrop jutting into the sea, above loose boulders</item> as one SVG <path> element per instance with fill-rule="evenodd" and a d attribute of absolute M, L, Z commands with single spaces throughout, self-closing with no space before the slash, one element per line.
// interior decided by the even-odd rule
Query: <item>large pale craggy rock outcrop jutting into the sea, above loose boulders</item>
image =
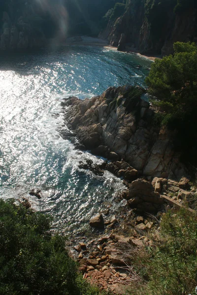
<path fill-rule="evenodd" d="M 172 134 L 152 126 L 154 111 L 140 98 L 142 92 L 125 86 L 83 101 L 70 97 L 65 100 L 66 125 L 87 149 L 107 146 L 143 175 L 180 178 L 185 170 L 173 150 Z"/>

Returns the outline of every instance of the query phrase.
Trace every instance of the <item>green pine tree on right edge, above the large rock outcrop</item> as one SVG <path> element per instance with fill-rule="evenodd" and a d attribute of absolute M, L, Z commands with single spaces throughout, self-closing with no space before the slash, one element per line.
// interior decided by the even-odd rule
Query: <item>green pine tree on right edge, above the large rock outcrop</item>
<path fill-rule="evenodd" d="M 182 160 L 197 164 L 197 46 L 174 44 L 174 55 L 156 59 L 146 78 L 161 125 L 176 131 L 175 147 Z"/>

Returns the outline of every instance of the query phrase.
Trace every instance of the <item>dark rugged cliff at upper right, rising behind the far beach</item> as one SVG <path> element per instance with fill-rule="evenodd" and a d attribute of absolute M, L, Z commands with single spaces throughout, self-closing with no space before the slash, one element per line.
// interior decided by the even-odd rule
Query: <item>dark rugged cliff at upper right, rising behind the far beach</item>
<path fill-rule="evenodd" d="M 174 12 L 175 0 L 152 2 L 131 0 L 124 15 L 115 22 L 109 21 L 99 37 L 118 46 L 124 33 L 131 49 L 163 56 L 173 53 L 174 42 L 197 41 L 196 6 Z"/>

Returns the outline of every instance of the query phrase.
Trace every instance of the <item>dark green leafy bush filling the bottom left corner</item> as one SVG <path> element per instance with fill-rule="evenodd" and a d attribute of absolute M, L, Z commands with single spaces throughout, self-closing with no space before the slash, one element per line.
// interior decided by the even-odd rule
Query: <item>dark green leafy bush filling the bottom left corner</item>
<path fill-rule="evenodd" d="M 50 223 L 49 216 L 0 200 L 1 295 L 99 294 L 81 279 Z"/>

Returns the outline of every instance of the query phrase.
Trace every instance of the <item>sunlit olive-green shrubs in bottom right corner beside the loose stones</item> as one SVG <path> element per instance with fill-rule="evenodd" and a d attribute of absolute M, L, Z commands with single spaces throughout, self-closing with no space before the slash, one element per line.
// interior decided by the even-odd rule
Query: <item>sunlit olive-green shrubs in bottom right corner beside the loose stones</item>
<path fill-rule="evenodd" d="M 159 236 L 158 236 L 159 235 Z M 186 209 L 169 210 L 162 218 L 155 247 L 147 249 L 136 267 L 142 280 L 132 295 L 194 295 L 197 286 L 197 216 Z"/>

